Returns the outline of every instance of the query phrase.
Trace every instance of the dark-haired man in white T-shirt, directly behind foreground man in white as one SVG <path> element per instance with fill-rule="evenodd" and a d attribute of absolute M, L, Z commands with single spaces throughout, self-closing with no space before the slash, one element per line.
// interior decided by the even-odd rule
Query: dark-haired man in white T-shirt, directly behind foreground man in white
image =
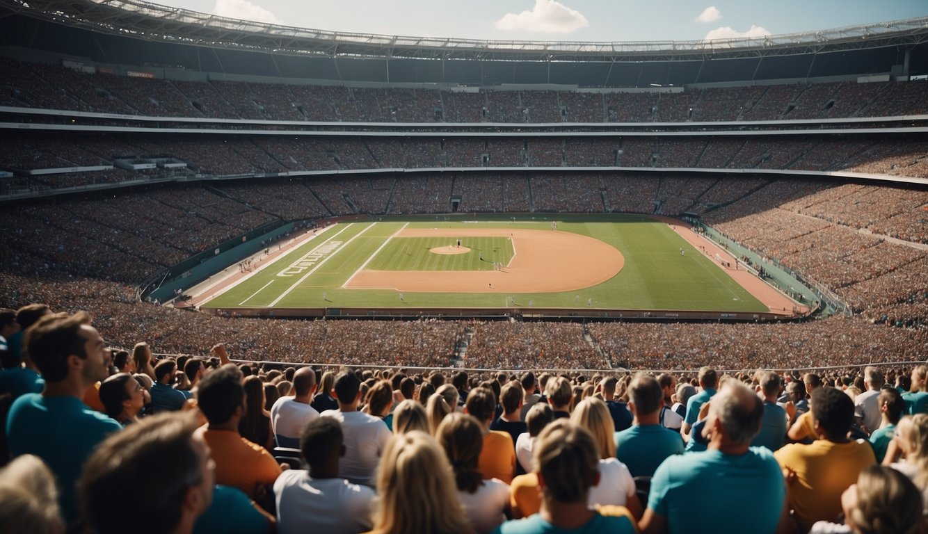
<path fill-rule="evenodd" d="M 339 477 L 354 484 L 370 486 L 380 455 L 390 440 L 390 430 L 379 418 L 357 411 L 361 401 L 361 380 L 353 372 L 340 373 L 335 378 L 333 392 L 339 401 L 339 409 L 320 415 L 332 417 L 342 424 L 345 453 L 339 462 Z"/>

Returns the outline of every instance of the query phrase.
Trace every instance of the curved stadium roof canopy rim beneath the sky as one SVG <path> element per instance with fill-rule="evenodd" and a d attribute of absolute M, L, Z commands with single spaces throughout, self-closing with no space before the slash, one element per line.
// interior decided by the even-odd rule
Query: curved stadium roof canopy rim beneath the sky
<path fill-rule="evenodd" d="M 228 19 L 141 0 L 0 0 L 0 6 L 93 32 L 296 56 L 515 61 L 679 61 L 818 54 L 922 44 L 928 17 L 819 32 L 712 41 L 482 41 L 328 32 Z"/>

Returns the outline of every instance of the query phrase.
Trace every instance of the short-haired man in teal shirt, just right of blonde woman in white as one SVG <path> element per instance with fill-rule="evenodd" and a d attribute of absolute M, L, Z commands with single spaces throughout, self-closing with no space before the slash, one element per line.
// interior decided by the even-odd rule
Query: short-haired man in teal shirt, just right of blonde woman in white
<path fill-rule="evenodd" d="M 651 477 L 668 456 L 683 453 L 679 432 L 664 428 L 662 389 L 653 376 L 638 373 L 628 385 L 628 408 L 635 424 L 615 434 L 616 458 L 628 466 L 632 477 Z"/>

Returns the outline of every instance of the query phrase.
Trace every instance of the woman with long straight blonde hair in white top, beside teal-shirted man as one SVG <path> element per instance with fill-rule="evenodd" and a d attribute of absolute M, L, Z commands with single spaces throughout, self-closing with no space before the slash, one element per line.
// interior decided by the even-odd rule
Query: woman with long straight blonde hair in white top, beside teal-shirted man
<path fill-rule="evenodd" d="M 635 490 L 635 479 L 628 467 L 615 458 L 615 425 L 609 407 L 596 397 L 580 401 L 571 414 L 571 423 L 583 426 L 593 436 L 599 455 L 599 484 L 589 489 L 589 505 L 625 506 L 639 518 L 643 510 Z"/>

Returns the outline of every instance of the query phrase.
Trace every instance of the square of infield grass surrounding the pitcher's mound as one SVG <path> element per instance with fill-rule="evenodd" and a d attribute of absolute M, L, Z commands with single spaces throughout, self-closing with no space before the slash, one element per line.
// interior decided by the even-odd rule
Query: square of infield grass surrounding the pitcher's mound
<path fill-rule="evenodd" d="M 506 237 L 467 237 L 464 254 L 433 254 L 432 248 L 457 247 L 454 237 L 396 237 L 380 250 L 367 269 L 377 271 L 493 271 L 493 263 L 512 260 Z M 483 258 L 483 260 L 482 260 Z"/>

